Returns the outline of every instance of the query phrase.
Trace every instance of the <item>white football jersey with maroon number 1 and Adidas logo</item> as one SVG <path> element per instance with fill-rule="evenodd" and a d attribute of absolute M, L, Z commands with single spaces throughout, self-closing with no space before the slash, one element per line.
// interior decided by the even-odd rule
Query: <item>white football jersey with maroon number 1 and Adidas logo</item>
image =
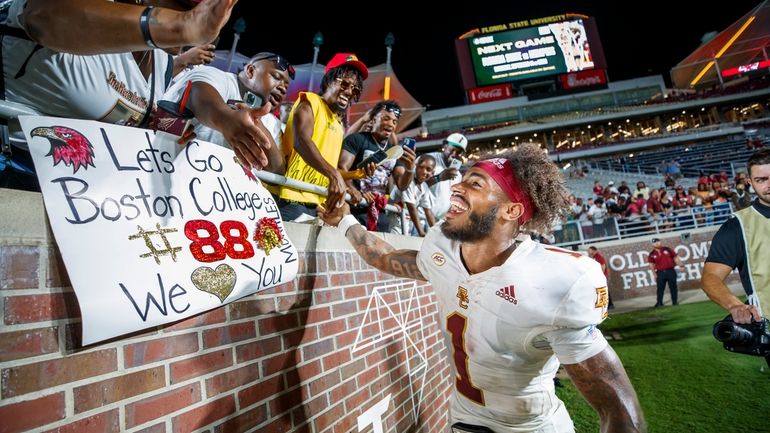
<path fill-rule="evenodd" d="M 437 224 L 417 258 L 433 286 L 455 367 L 452 422 L 496 433 L 572 431 L 554 392 L 559 362 L 607 346 L 607 280 L 590 257 L 529 238 L 502 266 L 470 275 Z"/>

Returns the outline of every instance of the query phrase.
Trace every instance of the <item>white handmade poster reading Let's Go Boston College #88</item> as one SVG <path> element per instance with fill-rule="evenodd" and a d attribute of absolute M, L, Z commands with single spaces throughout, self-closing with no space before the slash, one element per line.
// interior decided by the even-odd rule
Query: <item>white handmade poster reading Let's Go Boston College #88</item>
<path fill-rule="evenodd" d="M 230 149 L 93 121 L 20 118 L 83 318 L 83 344 L 291 281 L 270 193 Z"/>

